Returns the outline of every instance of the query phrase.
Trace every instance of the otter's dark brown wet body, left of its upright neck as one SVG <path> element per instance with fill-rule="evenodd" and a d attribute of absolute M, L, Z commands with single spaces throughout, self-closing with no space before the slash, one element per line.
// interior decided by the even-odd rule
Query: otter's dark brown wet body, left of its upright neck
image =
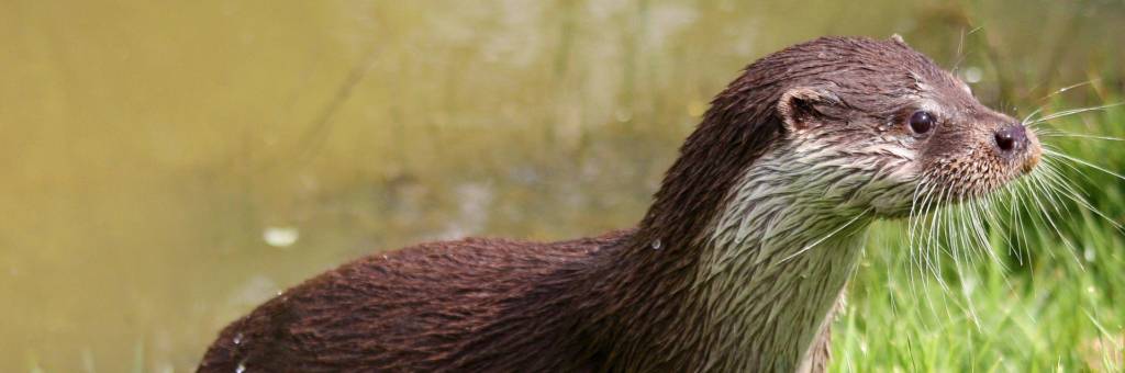
<path fill-rule="evenodd" d="M 596 371 L 598 351 L 578 333 L 593 320 L 578 313 L 608 304 L 568 274 L 630 234 L 465 239 L 361 258 L 232 324 L 200 371 Z"/>

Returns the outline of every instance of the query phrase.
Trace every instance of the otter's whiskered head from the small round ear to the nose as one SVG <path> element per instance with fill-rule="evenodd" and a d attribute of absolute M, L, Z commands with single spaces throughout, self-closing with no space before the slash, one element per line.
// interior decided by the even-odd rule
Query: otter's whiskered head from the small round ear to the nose
<path fill-rule="evenodd" d="M 843 175 L 826 186 L 842 189 L 844 204 L 899 216 L 919 192 L 982 197 L 1038 162 L 1032 131 L 901 38 L 820 39 L 770 60 L 788 65 L 772 78 L 783 148 Z"/>

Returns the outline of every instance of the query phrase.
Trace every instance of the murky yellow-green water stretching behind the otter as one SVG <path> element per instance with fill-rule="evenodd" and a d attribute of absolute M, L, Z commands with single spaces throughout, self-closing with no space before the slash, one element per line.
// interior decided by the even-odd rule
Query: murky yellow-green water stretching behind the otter
<path fill-rule="evenodd" d="M 364 253 L 629 226 L 710 95 L 813 36 L 900 33 L 952 65 L 981 19 L 966 43 L 1019 61 L 965 56 L 986 99 L 1082 80 L 1125 35 L 1090 7 L 7 1 L 0 371 L 184 371 Z"/>

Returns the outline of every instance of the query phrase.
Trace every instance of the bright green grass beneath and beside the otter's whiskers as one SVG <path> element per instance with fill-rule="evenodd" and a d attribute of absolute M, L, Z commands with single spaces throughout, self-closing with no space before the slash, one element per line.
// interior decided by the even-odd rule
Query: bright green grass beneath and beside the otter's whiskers
<path fill-rule="evenodd" d="M 1116 107 L 1051 127 L 1125 137 L 1123 125 L 1125 110 Z M 1043 142 L 1109 171 L 1125 170 L 1123 142 Z M 978 254 L 956 265 L 943 255 L 940 279 L 911 265 L 904 222 L 879 224 L 836 321 L 832 370 L 1125 371 L 1125 234 L 1108 221 L 1125 221 L 1125 181 L 1082 165 L 1061 170 L 1106 217 L 1071 202 L 1053 215 L 1058 231 L 1027 217 L 1020 234 L 990 229 L 996 258 Z"/>

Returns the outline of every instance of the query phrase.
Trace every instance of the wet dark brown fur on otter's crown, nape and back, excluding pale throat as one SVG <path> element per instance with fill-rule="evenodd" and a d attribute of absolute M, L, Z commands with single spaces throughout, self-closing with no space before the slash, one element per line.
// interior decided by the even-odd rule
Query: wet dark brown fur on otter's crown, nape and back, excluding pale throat
<path fill-rule="evenodd" d="M 371 255 L 231 324 L 199 371 L 706 370 L 718 353 L 702 331 L 710 309 L 693 284 L 709 227 L 739 176 L 786 125 L 898 120 L 918 80 L 960 89 L 900 42 L 821 38 L 775 53 L 712 101 L 638 228 L 550 244 L 470 238 Z M 786 101 L 792 111 L 781 112 L 783 94 L 802 87 L 813 94 Z M 814 342 L 813 371 L 826 365 L 827 340 L 826 330 Z"/>

